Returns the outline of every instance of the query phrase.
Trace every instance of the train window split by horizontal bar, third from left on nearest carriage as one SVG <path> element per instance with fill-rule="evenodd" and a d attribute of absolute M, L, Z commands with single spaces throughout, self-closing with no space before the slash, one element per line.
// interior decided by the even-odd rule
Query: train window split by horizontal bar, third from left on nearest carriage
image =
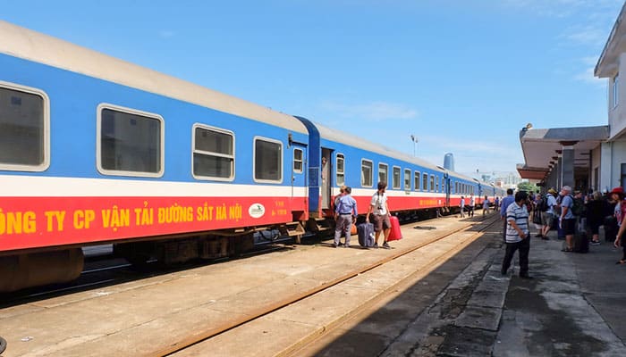
<path fill-rule="evenodd" d="M 193 176 L 197 179 L 234 179 L 232 132 L 196 124 L 193 127 Z"/>

